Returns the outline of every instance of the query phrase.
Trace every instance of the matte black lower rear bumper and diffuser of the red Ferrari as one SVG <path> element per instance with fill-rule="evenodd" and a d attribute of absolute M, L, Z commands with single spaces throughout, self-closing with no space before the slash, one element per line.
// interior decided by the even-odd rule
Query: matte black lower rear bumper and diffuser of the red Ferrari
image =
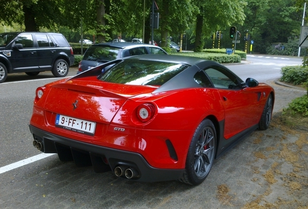
<path fill-rule="evenodd" d="M 154 168 L 139 153 L 92 145 L 51 134 L 32 125 L 29 127 L 34 140 L 43 144 L 43 152 L 58 153 L 60 160 L 74 160 L 77 166 L 92 164 L 95 172 L 104 172 L 108 168 L 114 172 L 117 166 L 134 168 L 139 175 L 132 180 L 143 182 L 177 180 L 184 173 L 184 169 Z"/>

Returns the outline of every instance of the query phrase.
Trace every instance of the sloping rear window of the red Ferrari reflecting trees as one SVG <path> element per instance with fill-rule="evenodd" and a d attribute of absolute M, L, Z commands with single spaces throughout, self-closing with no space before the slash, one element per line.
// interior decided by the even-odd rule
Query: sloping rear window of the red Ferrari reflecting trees
<path fill-rule="evenodd" d="M 161 86 L 188 66 L 157 60 L 123 60 L 99 79 L 111 83 Z"/>

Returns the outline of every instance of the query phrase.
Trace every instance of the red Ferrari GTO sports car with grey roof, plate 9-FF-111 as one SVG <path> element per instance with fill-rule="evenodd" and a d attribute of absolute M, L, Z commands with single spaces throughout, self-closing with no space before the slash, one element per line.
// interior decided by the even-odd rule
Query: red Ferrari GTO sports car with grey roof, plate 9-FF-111
<path fill-rule="evenodd" d="M 29 126 L 33 145 L 61 161 L 196 185 L 215 158 L 268 128 L 274 99 L 214 61 L 141 55 L 39 87 Z"/>

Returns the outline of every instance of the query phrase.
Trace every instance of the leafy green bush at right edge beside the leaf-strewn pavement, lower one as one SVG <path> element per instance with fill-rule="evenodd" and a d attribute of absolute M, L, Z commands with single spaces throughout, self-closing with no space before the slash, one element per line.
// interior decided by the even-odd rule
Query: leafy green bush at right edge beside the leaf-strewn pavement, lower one
<path fill-rule="evenodd" d="M 294 99 L 284 110 L 289 111 L 291 114 L 301 114 L 302 116 L 308 117 L 308 96 L 304 95 Z"/>

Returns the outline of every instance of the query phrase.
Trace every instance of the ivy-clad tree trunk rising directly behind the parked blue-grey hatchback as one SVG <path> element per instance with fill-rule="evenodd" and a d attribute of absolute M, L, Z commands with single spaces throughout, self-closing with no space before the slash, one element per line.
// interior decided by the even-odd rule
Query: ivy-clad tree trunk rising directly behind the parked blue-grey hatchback
<path fill-rule="evenodd" d="M 106 41 L 105 30 L 105 0 L 99 0 L 99 4 L 96 9 L 96 21 L 97 21 L 97 40 L 99 43 Z"/>

